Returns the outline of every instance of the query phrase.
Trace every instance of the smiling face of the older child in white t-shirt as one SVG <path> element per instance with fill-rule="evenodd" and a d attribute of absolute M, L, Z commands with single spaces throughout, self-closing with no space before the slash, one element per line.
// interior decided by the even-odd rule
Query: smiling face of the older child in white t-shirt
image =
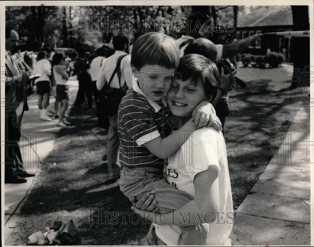
<path fill-rule="evenodd" d="M 169 106 L 174 115 L 192 115 L 193 109 L 205 99 L 205 90 L 201 83 L 193 85 L 191 79 L 172 82 Z"/>

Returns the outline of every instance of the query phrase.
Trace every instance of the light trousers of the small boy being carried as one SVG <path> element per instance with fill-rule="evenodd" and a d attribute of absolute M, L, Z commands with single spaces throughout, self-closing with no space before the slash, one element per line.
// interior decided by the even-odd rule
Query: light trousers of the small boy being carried
<path fill-rule="evenodd" d="M 154 194 L 159 213 L 177 210 L 193 200 L 187 192 L 168 184 L 163 177 L 163 167 L 154 164 L 146 167 L 123 166 L 119 184 L 127 197 L 136 196 L 139 200 L 146 193 Z M 207 224 L 181 227 L 178 245 L 204 245 L 207 235 Z"/>

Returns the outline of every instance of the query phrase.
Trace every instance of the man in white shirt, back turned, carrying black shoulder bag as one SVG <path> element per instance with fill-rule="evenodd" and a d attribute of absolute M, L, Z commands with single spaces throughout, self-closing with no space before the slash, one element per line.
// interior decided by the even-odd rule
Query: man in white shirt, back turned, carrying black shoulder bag
<path fill-rule="evenodd" d="M 119 78 L 117 73 L 114 75 L 110 87 L 120 88 L 125 84 L 130 89 L 132 88 L 132 70 L 131 70 L 131 56 L 129 56 L 129 40 L 124 35 L 114 36 L 112 39 L 113 48 L 115 53 L 109 58 L 106 58 L 100 68 L 98 74 L 98 80 L 96 82 L 97 89 L 100 91 L 106 82 L 110 81 L 110 78 L 116 68 L 117 60 L 121 55 L 126 55 L 122 58 L 120 69 L 121 78 L 119 85 Z M 108 171 L 112 173 L 112 178 L 118 178 L 120 174 L 117 172 L 119 168 L 119 136 L 117 126 L 113 126 L 111 119 L 113 116 L 109 116 L 109 129 L 108 129 L 108 145 L 107 145 L 107 159 L 108 159 Z M 112 171 L 112 169 L 114 169 Z"/>

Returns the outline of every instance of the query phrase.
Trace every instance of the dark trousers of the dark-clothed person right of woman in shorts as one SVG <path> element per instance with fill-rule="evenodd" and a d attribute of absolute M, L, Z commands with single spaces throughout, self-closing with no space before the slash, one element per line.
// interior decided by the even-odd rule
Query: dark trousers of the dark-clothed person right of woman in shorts
<path fill-rule="evenodd" d="M 83 74 L 84 73 L 84 74 Z M 92 83 L 87 72 L 81 72 L 78 76 L 78 93 L 74 102 L 75 107 L 80 107 L 87 98 L 88 108 L 93 107 Z"/>

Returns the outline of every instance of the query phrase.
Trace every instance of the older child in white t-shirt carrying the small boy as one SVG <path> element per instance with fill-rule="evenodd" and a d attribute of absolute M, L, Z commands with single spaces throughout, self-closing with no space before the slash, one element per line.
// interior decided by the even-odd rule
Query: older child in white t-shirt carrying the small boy
<path fill-rule="evenodd" d="M 219 73 L 211 60 L 198 54 L 182 57 L 177 72 L 181 73 L 182 81 L 172 83 L 169 105 L 172 106 L 172 114 L 184 124 L 199 101 L 215 97 Z M 222 133 L 213 128 L 195 130 L 168 158 L 164 177 L 168 184 L 187 192 L 194 199 L 166 214 L 132 207 L 142 217 L 155 223 L 150 232 L 155 231 L 157 236 L 147 239 L 147 244 L 156 244 L 156 237 L 167 245 L 180 244 L 180 227 L 202 223 L 201 227 L 208 228 L 205 245 L 231 245 L 229 235 L 233 226 L 233 205 Z"/>

